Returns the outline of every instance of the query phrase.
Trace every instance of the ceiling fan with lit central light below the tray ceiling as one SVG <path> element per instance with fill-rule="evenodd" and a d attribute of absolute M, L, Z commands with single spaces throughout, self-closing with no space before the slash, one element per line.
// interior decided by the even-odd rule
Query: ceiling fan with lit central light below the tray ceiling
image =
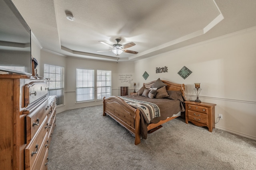
<path fill-rule="evenodd" d="M 107 45 L 108 47 L 111 47 L 111 48 L 113 48 L 113 49 L 110 49 L 110 50 L 100 50 L 100 51 L 97 51 L 97 52 L 112 51 L 112 52 L 116 55 L 116 57 L 119 56 L 120 54 L 122 54 L 122 52 L 125 52 L 125 53 L 132 53 L 132 54 L 138 54 L 137 51 L 127 50 L 127 48 L 136 45 L 134 42 L 130 42 L 130 43 L 127 43 L 127 44 L 122 45 L 122 44 L 118 44 L 118 43 L 121 41 L 121 39 L 115 39 L 115 41 L 116 41 L 117 44 L 114 44 L 114 45 L 110 45 L 110 44 L 105 43 L 105 42 L 103 42 L 103 41 L 99 41 L 100 43 L 105 44 L 105 45 Z"/>

